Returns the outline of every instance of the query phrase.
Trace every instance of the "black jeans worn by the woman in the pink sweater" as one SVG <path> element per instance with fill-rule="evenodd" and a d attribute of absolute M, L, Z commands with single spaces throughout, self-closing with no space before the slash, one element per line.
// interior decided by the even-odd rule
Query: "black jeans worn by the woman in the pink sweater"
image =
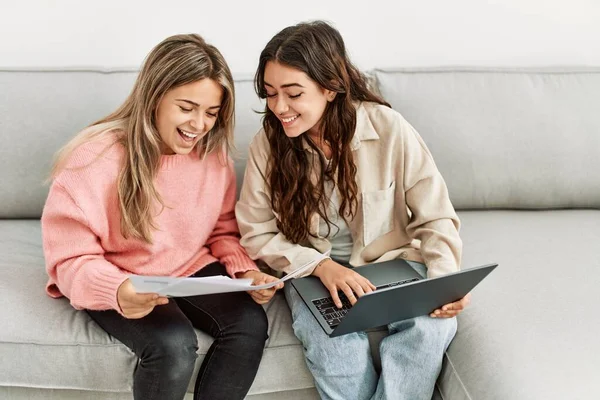
<path fill-rule="evenodd" d="M 194 276 L 211 275 L 226 275 L 225 267 L 213 263 Z M 183 399 L 197 358 L 192 327 L 215 338 L 198 372 L 194 399 L 243 399 L 268 337 L 267 316 L 246 292 L 171 298 L 140 319 L 115 310 L 87 312 L 139 357 L 136 400 Z"/>

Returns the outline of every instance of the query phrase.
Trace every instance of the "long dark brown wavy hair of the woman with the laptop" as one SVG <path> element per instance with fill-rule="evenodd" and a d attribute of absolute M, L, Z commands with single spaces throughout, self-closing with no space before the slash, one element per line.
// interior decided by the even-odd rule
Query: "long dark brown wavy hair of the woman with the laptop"
<path fill-rule="evenodd" d="M 267 167 L 267 184 L 271 191 L 271 207 L 279 215 L 277 227 L 288 240 L 301 243 L 310 232 L 310 218 L 318 213 L 327 221 L 325 182 L 335 181 L 341 194 L 338 210 L 344 219 L 352 219 L 357 207 L 356 164 L 350 143 L 356 129 L 356 102 L 370 101 L 389 107 L 369 90 L 367 80 L 352 65 L 340 33 L 324 21 L 300 23 L 275 35 L 260 54 L 255 75 L 255 89 L 262 99 L 267 97 L 264 74 L 268 62 L 277 62 L 304 72 L 321 88 L 336 93 L 320 121 L 322 140 L 329 143 L 332 156 L 329 166 L 317 144 L 309 135 L 289 138 L 277 116 L 265 107 L 263 128 L 267 134 L 271 158 Z M 304 150 L 303 141 L 319 155 L 314 165 Z M 318 171 L 318 172 L 317 172 Z M 314 182 L 311 177 L 318 178 Z"/>

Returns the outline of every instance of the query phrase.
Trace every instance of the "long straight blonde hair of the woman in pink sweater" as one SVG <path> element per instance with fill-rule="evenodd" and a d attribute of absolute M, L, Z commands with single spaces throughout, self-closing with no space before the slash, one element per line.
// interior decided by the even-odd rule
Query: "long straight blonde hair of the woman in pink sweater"
<path fill-rule="evenodd" d="M 164 207 L 154 186 L 160 165 L 160 135 L 156 109 L 171 89 L 201 79 L 223 88 L 223 100 L 213 128 L 197 144 L 199 157 L 218 151 L 223 163 L 233 148 L 234 86 L 225 59 L 214 46 L 196 34 L 175 35 L 159 43 L 146 57 L 135 85 L 125 102 L 112 114 L 95 122 L 67 143 L 56 156 L 51 171 L 55 178 L 80 145 L 118 133 L 125 157 L 118 178 L 121 233 L 152 242 L 153 207 Z"/>

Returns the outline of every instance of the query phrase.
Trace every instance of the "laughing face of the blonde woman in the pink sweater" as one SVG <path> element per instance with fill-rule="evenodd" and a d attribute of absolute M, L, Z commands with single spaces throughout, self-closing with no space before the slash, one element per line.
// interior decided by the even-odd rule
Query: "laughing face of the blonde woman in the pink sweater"
<path fill-rule="evenodd" d="M 202 79 L 169 90 L 156 109 L 162 154 L 189 154 L 215 125 L 223 88 Z"/>

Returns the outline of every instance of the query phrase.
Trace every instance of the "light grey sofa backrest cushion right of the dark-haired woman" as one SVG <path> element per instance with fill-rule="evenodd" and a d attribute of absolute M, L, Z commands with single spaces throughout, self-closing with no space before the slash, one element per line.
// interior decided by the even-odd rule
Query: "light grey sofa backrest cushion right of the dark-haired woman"
<path fill-rule="evenodd" d="M 376 70 L 458 209 L 600 208 L 600 69 Z"/>

